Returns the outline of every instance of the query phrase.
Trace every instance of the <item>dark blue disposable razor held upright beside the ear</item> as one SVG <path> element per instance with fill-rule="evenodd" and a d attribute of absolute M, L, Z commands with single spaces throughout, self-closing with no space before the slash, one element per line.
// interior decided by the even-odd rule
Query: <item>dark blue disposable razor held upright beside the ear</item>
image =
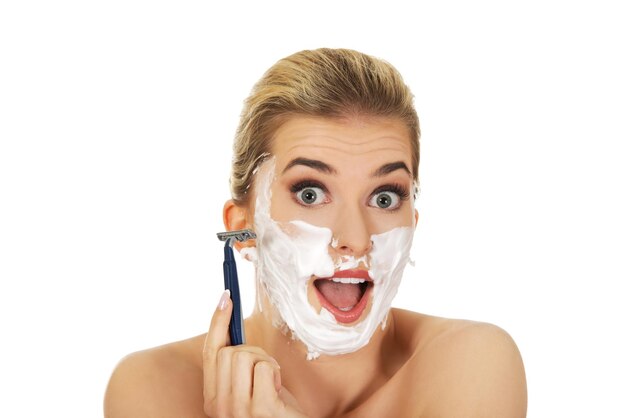
<path fill-rule="evenodd" d="M 241 296 L 239 294 L 239 279 L 237 277 L 237 264 L 233 253 L 235 241 L 244 242 L 256 238 L 254 231 L 241 229 L 238 231 L 218 232 L 217 238 L 224 241 L 224 289 L 230 290 L 230 298 L 233 301 L 233 311 L 230 314 L 228 334 L 231 345 L 245 343 L 246 336 L 243 328 L 243 314 L 241 310 Z"/>

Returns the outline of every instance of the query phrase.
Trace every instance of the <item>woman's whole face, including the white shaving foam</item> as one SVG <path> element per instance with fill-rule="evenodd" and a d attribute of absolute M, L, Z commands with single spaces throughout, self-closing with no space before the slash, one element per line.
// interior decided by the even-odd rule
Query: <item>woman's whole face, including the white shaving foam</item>
<path fill-rule="evenodd" d="M 254 260 L 272 310 L 308 348 L 354 352 L 386 316 L 417 212 L 411 144 L 396 119 L 293 117 L 255 177 Z"/>

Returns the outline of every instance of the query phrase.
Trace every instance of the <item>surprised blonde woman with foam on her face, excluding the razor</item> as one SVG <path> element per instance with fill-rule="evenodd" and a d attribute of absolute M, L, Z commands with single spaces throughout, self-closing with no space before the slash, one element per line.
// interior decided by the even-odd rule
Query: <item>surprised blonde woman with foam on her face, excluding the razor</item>
<path fill-rule="evenodd" d="M 244 105 L 228 230 L 256 266 L 246 344 L 225 292 L 207 334 L 134 353 L 109 417 L 523 417 L 493 325 L 391 309 L 418 213 L 419 124 L 399 73 L 351 50 L 280 60 Z"/>

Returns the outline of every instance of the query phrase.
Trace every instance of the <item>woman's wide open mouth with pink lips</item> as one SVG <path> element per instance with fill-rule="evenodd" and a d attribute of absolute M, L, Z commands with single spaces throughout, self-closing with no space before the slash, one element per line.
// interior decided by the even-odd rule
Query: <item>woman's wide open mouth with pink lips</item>
<path fill-rule="evenodd" d="M 322 307 L 343 324 L 361 317 L 374 286 L 365 270 L 338 271 L 332 277 L 316 279 L 313 284 Z"/>

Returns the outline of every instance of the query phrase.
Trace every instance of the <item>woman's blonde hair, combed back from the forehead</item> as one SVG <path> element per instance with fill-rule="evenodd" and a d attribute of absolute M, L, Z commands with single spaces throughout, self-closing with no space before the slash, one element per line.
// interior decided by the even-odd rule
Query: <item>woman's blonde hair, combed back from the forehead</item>
<path fill-rule="evenodd" d="M 244 102 L 230 178 L 236 204 L 248 203 L 254 173 L 271 154 L 274 133 L 296 115 L 399 118 L 409 129 L 412 172 L 418 180 L 419 120 L 400 73 L 381 59 L 349 49 L 305 50 L 274 64 Z"/>

